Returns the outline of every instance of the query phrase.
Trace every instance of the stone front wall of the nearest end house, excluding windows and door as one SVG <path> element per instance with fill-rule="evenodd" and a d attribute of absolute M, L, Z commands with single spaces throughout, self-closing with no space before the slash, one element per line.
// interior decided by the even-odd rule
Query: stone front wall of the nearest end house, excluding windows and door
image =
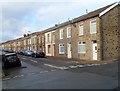
<path fill-rule="evenodd" d="M 90 34 L 90 21 L 96 19 L 97 33 Z M 79 25 L 84 24 L 84 35 L 79 36 Z M 97 60 L 100 60 L 100 32 L 99 32 L 99 18 L 94 17 L 81 22 L 76 23 L 76 27 L 73 27 L 72 31 L 72 55 L 74 59 L 80 60 L 93 60 L 92 41 L 97 41 Z M 86 53 L 78 53 L 78 42 L 83 41 L 86 44 Z"/>

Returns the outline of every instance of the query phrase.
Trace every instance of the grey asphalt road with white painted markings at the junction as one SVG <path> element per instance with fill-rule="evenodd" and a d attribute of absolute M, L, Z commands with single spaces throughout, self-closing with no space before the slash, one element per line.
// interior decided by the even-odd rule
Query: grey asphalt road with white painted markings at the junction
<path fill-rule="evenodd" d="M 114 89 L 118 62 L 83 65 L 72 61 L 20 56 L 22 67 L 11 68 L 3 89 Z"/>

